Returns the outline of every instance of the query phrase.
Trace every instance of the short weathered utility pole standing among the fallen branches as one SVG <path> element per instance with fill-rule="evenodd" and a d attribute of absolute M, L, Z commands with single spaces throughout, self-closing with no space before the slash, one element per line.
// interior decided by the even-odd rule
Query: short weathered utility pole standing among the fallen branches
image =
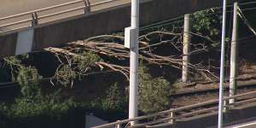
<path fill-rule="evenodd" d="M 189 44 L 190 44 L 190 19 L 189 15 L 184 15 L 184 32 L 183 32 L 183 83 L 189 79 Z"/>

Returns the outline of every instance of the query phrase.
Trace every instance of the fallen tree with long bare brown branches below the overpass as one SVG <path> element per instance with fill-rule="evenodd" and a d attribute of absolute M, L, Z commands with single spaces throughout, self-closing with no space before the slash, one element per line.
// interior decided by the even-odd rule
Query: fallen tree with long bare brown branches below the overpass
<path fill-rule="evenodd" d="M 201 36 L 201 35 L 199 35 Z M 177 69 L 182 68 L 182 33 L 166 31 L 149 32 L 139 37 L 139 60 L 146 65 L 168 66 Z M 205 37 L 201 37 L 205 38 Z M 208 38 L 207 38 L 208 39 Z M 67 84 L 76 76 L 84 76 L 95 71 L 91 67 L 108 68 L 115 72 L 122 73 L 129 80 L 129 58 L 130 51 L 124 47 L 124 37 L 121 35 L 101 35 L 87 38 L 67 44 L 63 48 L 47 48 L 55 54 L 60 66 L 55 72 L 53 79 Z M 168 55 L 160 55 L 156 49 L 163 46 L 170 46 L 177 52 L 168 52 Z M 205 44 L 191 44 L 193 50 L 189 55 L 196 55 L 207 52 L 209 47 Z M 105 59 L 102 59 L 105 58 Z M 107 59 L 106 59 L 107 58 Z M 207 81 L 215 81 L 218 77 L 212 73 L 212 66 L 197 63 L 189 63 L 190 73 L 198 73 Z M 76 75 L 76 73 L 78 75 Z M 62 80 L 61 80 L 62 79 Z"/>

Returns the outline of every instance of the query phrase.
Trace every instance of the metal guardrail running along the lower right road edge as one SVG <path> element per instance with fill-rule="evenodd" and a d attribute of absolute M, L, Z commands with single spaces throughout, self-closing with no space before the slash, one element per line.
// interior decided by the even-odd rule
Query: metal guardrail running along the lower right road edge
<path fill-rule="evenodd" d="M 235 102 L 233 104 L 229 104 L 229 100 L 233 99 L 233 98 L 241 98 L 243 96 L 250 96 L 252 94 L 256 94 L 256 90 L 255 91 L 250 91 L 247 93 L 242 93 L 236 96 L 227 96 L 224 97 L 223 101 L 224 101 L 224 110 L 228 110 L 228 108 L 243 104 L 243 103 L 247 103 L 247 102 L 256 102 L 256 97 L 250 97 L 246 100 L 242 100 L 239 102 Z M 209 107 L 206 108 L 207 106 L 211 106 L 214 104 L 218 104 L 218 99 L 216 100 L 212 100 L 212 101 L 208 101 L 208 102 L 201 102 L 201 103 L 197 103 L 197 104 L 193 104 L 193 105 L 189 105 L 189 106 L 185 106 L 185 107 L 181 107 L 181 108 L 172 108 L 166 111 L 162 111 L 162 112 L 158 112 L 158 113 L 151 113 L 148 115 L 143 115 L 143 116 L 139 116 L 137 118 L 134 119 L 125 119 L 125 120 L 118 120 L 116 122 L 113 123 L 109 123 L 109 124 L 105 124 L 105 125 L 98 125 L 98 126 L 94 126 L 92 128 L 110 128 L 110 127 L 116 127 L 116 128 L 121 128 L 122 125 L 125 125 L 125 127 L 131 127 L 128 126 L 129 122 L 131 121 L 139 121 L 142 119 L 148 119 L 151 121 L 148 122 L 144 122 L 142 124 L 138 123 L 137 125 L 133 125 L 132 127 L 143 127 L 146 125 L 154 125 L 154 124 L 158 124 L 158 123 L 174 123 L 176 119 L 184 119 L 184 118 L 188 118 L 188 117 L 193 117 L 195 115 L 200 115 L 203 113 L 212 113 L 212 112 L 216 112 L 218 110 L 218 107 Z M 192 110 L 193 108 L 197 108 L 192 112 L 189 113 L 180 113 L 177 114 L 177 112 L 182 112 L 182 111 L 188 111 L 188 110 Z M 201 109 L 200 109 L 201 108 Z M 159 119 L 156 119 L 157 117 L 161 117 Z M 155 119 L 153 119 L 155 118 Z M 153 120 L 152 120 L 153 119 Z"/>

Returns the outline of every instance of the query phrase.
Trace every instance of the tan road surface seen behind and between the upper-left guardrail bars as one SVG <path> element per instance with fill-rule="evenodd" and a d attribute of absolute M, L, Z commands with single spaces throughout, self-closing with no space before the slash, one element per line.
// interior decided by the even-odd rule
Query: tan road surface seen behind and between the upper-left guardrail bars
<path fill-rule="evenodd" d="M 32 11 L 32 10 L 36 10 L 36 9 L 44 9 L 50 6 L 55 6 L 61 3 L 69 3 L 69 2 L 73 2 L 76 0 L 1 0 L 1 4 L 0 4 L 0 18 L 9 16 L 9 15 L 17 15 L 20 13 L 25 13 L 28 11 Z M 100 3 L 106 0 L 90 0 L 91 4 L 94 3 Z M 103 4 L 103 5 L 98 5 L 98 6 L 94 6 L 91 8 L 91 11 L 96 11 L 96 10 L 101 10 L 101 9 L 106 9 L 109 7 L 113 7 L 113 6 L 118 6 L 121 4 L 125 4 L 125 3 L 129 3 L 131 0 L 119 0 L 119 1 L 114 1 L 111 3 L 107 3 L 107 4 Z M 60 7 L 60 8 L 55 8 L 55 9 L 49 9 L 49 10 L 44 10 L 42 12 L 38 13 L 39 15 L 49 15 L 49 14 L 53 14 L 56 12 L 61 12 L 61 11 L 65 11 L 67 9 L 74 9 L 74 8 L 79 8 L 84 6 L 84 3 L 74 3 L 71 5 L 67 5 L 64 7 Z M 62 15 L 55 15 L 55 16 L 51 16 L 51 17 L 47 17 L 44 18 L 42 20 L 38 20 L 39 24 L 45 23 L 45 22 L 49 22 L 49 21 L 53 21 L 53 20 L 60 20 L 63 18 L 67 18 L 67 17 L 71 17 L 74 15 L 83 15 L 84 14 L 84 9 L 79 9 L 79 10 L 75 10 L 73 12 L 69 12 L 69 13 L 65 13 Z M 20 17 L 16 17 L 16 18 L 12 18 L 12 19 L 8 19 L 8 20 L 0 20 L 0 25 L 6 25 L 15 21 L 19 21 L 19 20 L 26 20 L 31 18 L 31 15 L 23 15 Z M 14 28 L 19 28 L 22 26 L 31 26 L 31 22 L 25 22 L 19 25 L 15 25 L 15 26 L 8 26 L 8 27 L 2 27 L 0 28 L 0 32 L 2 31 L 6 31 L 6 30 L 11 30 Z"/>

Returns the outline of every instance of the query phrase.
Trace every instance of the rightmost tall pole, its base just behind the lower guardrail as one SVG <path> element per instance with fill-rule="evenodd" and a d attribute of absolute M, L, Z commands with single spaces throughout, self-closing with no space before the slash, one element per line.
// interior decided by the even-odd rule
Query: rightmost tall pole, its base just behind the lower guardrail
<path fill-rule="evenodd" d="M 230 55 L 230 96 L 236 95 L 236 76 L 237 76 L 237 5 L 234 3 L 234 16 L 233 16 L 233 32 L 232 32 L 232 41 L 231 41 L 231 55 Z M 235 98 L 230 99 L 230 104 L 235 102 Z"/>

